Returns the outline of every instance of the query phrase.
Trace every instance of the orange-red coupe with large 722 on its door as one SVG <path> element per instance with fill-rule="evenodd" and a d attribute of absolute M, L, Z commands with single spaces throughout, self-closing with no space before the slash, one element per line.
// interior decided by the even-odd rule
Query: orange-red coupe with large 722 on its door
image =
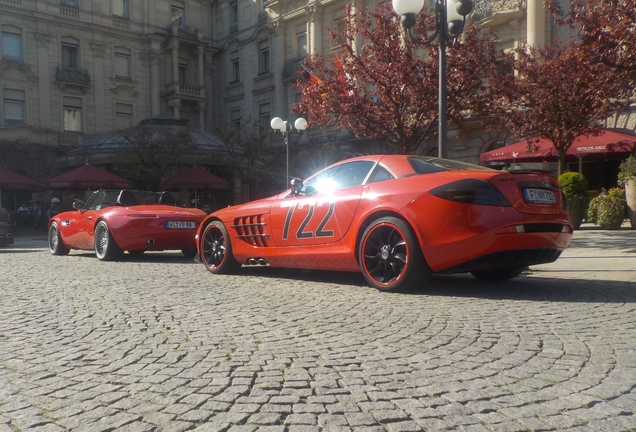
<path fill-rule="evenodd" d="M 196 239 L 208 270 L 362 271 L 371 286 L 401 291 L 432 273 L 513 278 L 555 261 L 572 237 L 566 200 L 543 171 L 373 155 L 291 186 L 205 218 Z"/>

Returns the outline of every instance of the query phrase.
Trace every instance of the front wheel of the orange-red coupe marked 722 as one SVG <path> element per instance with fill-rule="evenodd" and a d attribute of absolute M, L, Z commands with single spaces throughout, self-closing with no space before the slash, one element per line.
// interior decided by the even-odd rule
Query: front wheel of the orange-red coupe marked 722
<path fill-rule="evenodd" d="M 230 236 L 221 221 L 213 221 L 204 228 L 200 251 L 201 261 L 212 273 L 230 274 L 241 266 L 232 255 Z"/>

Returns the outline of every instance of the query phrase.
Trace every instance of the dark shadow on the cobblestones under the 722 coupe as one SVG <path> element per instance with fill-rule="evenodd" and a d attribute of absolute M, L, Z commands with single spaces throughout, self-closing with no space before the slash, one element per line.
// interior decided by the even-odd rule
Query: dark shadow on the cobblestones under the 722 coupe
<path fill-rule="evenodd" d="M 355 272 L 243 267 L 238 274 L 374 289 L 368 286 L 361 273 Z M 636 303 L 636 283 L 525 275 L 504 282 L 484 282 L 469 274 L 433 275 L 426 286 L 419 290 L 395 294 L 387 293 L 387 295 L 624 304 Z"/>

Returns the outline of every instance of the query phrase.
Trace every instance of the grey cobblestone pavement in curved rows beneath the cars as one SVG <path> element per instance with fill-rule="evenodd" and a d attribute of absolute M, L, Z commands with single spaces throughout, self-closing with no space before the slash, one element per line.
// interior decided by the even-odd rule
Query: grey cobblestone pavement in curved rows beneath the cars
<path fill-rule="evenodd" d="M 43 237 L 0 249 L 0 432 L 636 430 L 636 231 L 414 294 Z"/>

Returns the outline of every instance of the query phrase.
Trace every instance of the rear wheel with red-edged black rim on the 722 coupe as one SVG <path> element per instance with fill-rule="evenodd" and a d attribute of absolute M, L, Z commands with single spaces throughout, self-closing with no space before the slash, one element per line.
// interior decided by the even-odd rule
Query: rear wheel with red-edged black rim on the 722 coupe
<path fill-rule="evenodd" d="M 376 219 L 364 230 L 358 259 L 364 278 L 380 291 L 422 288 L 432 275 L 413 230 L 393 216 Z"/>

